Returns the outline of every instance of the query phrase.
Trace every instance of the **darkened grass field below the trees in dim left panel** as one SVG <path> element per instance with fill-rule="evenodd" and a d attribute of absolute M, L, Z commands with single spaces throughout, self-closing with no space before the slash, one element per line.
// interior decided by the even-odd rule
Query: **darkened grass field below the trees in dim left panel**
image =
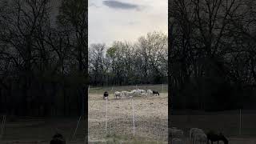
<path fill-rule="evenodd" d="M 1 115 L 0 115 L 1 116 Z M 2 116 L 1 116 L 2 117 Z M 38 118 L 14 117 L 7 115 L 0 118 L 3 129 L 1 136 L 3 142 L 46 142 L 59 132 L 67 142 L 82 142 L 85 139 L 84 118 Z M 1 143 L 1 142 L 0 142 Z"/>

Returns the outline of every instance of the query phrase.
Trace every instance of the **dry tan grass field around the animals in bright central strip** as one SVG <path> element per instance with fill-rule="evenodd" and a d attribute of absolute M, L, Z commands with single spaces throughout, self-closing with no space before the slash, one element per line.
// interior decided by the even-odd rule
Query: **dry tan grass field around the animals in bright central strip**
<path fill-rule="evenodd" d="M 133 111 L 130 98 L 114 98 L 114 91 L 134 90 L 136 86 L 95 87 L 89 91 L 90 142 L 166 143 L 168 101 L 167 86 L 137 86 L 143 90 L 158 90 L 160 96 L 134 97 L 135 137 L 133 137 Z M 104 91 L 110 93 L 107 108 L 102 99 Z"/>

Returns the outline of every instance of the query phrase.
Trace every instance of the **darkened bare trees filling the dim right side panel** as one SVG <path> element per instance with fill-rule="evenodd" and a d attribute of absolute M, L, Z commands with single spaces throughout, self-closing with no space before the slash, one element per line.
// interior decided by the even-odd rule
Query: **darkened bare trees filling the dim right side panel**
<path fill-rule="evenodd" d="M 174 109 L 256 108 L 253 0 L 169 1 L 169 91 Z"/>

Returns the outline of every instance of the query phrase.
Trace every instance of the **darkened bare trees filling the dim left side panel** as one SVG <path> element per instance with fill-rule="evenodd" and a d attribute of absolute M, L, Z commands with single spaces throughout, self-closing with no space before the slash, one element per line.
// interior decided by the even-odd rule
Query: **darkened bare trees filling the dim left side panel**
<path fill-rule="evenodd" d="M 0 2 L 0 114 L 84 114 L 87 2 L 50 2 Z"/>

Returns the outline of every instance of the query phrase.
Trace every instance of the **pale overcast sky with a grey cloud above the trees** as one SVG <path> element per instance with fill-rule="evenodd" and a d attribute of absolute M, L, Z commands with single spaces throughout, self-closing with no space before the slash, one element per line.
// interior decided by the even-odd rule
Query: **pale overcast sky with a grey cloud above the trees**
<path fill-rule="evenodd" d="M 89 45 L 134 42 L 148 32 L 168 32 L 168 0 L 89 0 Z"/>

